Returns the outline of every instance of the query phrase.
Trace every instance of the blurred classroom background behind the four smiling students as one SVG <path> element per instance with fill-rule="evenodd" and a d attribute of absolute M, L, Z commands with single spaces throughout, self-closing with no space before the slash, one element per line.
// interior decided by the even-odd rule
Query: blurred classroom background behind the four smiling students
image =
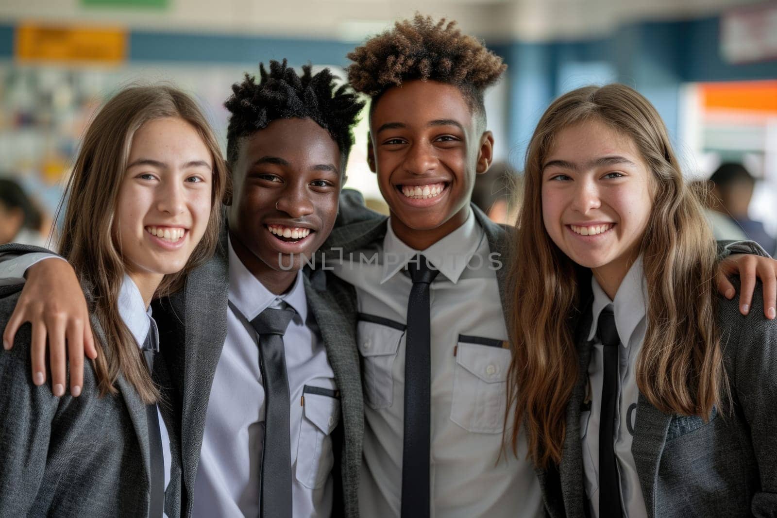
<path fill-rule="evenodd" d="M 657 106 L 690 181 L 711 187 L 725 165 L 709 202 L 718 235 L 777 252 L 777 2 L 748 0 L 0 0 L 0 242 L 48 235 L 78 139 L 120 87 L 186 89 L 223 145 L 230 85 L 259 61 L 343 75 L 350 50 L 416 10 L 458 20 L 509 65 L 486 97 L 497 164 L 475 194 L 494 219 L 514 217 L 550 101 L 624 82 Z M 356 134 L 347 185 L 385 210 L 366 117 Z"/>

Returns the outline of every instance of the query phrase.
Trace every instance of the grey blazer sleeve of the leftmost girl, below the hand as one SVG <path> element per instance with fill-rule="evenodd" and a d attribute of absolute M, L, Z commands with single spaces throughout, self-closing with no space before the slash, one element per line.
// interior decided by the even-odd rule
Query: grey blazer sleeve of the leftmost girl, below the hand
<path fill-rule="evenodd" d="M 17 295 L 0 300 L 5 326 Z M 0 351 L 0 516 L 27 516 L 46 468 L 52 421 L 59 405 L 47 386 L 30 381 L 30 324 L 13 349 Z"/>

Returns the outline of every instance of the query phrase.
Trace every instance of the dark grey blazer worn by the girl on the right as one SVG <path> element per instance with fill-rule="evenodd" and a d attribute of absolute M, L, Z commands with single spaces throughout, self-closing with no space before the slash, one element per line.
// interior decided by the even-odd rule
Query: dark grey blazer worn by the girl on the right
<path fill-rule="evenodd" d="M 590 282 L 589 282 L 590 283 Z M 737 286 L 738 288 L 738 286 Z M 761 284 L 740 315 L 738 297 L 718 299 L 731 400 L 704 422 L 668 415 L 639 396 L 632 454 L 648 516 L 777 516 L 777 321 L 764 318 Z M 585 315 L 585 316 L 582 316 Z M 591 304 L 577 325 L 578 384 L 566 412 L 559 466 L 538 470 L 553 518 L 587 516 L 580 446 Z"/>

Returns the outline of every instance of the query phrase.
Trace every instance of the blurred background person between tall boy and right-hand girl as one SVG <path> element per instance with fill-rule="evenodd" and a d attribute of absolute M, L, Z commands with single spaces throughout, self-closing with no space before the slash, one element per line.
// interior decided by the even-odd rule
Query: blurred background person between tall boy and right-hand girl
<path fill-rule="evenodd" d="M 489 219 L 500 224 L 514 224 L 521 195 L 521 177 L 505 162 L 493 164 L 476 177 L 472 203 Z"/>

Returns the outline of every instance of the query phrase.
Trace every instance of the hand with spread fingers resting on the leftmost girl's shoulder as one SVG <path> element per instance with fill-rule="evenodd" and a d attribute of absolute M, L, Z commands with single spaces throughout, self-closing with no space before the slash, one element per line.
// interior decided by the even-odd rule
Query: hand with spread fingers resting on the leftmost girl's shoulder
<path fill-rule="evenodd" d="M 64 395 L 68 361 L 70 393 L 81 395 L 84 380 L 84 354 L 97 357 L 92 326 L 81 284 L 75 270 L 61 258 L 44 259 L 27 269 L 27 280 L 2 335 L 3 347 L 11 349 L 16 332 L 25 323 L 32 325 L 33 383 L 46 382 L 48 341 L 52 392 Z"/>

